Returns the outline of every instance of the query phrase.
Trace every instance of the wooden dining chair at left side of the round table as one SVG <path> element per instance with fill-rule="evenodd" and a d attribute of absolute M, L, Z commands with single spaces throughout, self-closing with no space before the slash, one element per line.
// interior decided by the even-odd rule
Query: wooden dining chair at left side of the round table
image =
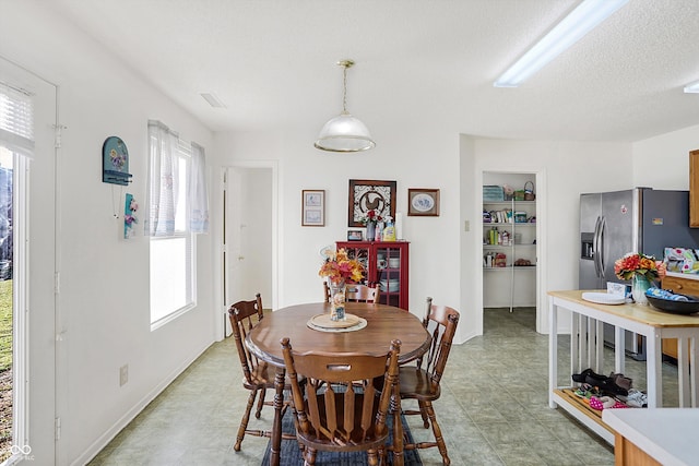
<path fill-rule="evenodd" d="M 240 358 L 240 366 L 242 368 L 242 386 L 250 391 L 248 396 L 248 404 L 240 419 L 240 427 L 236 435 L 236 443 L 233 449 L 236 452 L 240 451 L 240 444 L 246 434 L 254 437 L 268 437 L 271 438 L 271 431 L 263 430 L 248 430 L 248 422 L 250 420 L 250 411 L 254 405 L 254 401 L 258 399 L 258 407 L 254 413 L 256 418 L 260 418 L 263 406 L 272 406 L 272 402 L 265 402 L 265 394 L 268 389 L 274 389 L 274 368 L 268 367 L 266 362 L 258 361 L 248 348 L 245 346 L 245 338 L 248 333 L 262 320 L 264 316 L 262 312 L 262 298 L 258 292 L 256 299 L 251 301 L 238 301 L 228 308 L 228 319 L 230 320 L 230 326 L 233 327 L 233 336 L 238 348 L 238 357 Z M 285 384 L 284 390 L 291 390 L 288 384 Z M 259 397 L 258 397 L 259 396 Z M 286 407 L 284 406 L 284 410 Z M 295 439 L 295 435 L 283 435 L 284 439 Z"/>

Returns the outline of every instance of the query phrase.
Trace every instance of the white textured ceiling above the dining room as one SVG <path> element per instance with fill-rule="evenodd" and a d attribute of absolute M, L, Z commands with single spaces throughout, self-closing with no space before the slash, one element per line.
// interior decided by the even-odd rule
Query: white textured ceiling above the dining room
<path fill-rule="evenodd" d="M 631 0 L 519 88 L 493 81 L 576 0 L 54 0 L 214 131 L 428 119 L 487 138 L 638 141 L 699 123 L 699 1 Z M 212 108 L 200 93 L 227 108 Z"/>

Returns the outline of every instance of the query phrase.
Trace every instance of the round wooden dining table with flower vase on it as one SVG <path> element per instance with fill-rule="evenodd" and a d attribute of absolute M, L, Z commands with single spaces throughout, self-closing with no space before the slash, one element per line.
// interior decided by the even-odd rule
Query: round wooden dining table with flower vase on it
<path fill-rule="evenodd" d="M 347 302 L 345 312 L 366 320 L 366 326 L 350 332 L 323 332 L 307 325 L 318 314 L 330 313 L 330 303 L 289 306 L 265 314 L 246 337 L 246 346 L 258 359 L 277 368 L 274 380 L 274 421 L 272 425 L 271 464 L 280 464 L 282 444 L 282 407 L 284 405 L 284 356 L 281 339 L 288 337 L 294 351 L 366 353 L 386 355 L 391 340 L 401 340 L 399 362 L 410 362 L 429 349 L 429 333 L 415 315 L 403 309 L 379 303 Z M 400 401 L 398 413 L 400 413 Z M 394 416 L 394 438 L 402 440 L 400 416 Z M 400 440 L 399 440 L 400 441 Z M 394 450 L 395 450 L 394 444 Z M 402 442 L 394 458 L 402 459 Z M 399 459 L 399 461 L 400 461 Z"/>

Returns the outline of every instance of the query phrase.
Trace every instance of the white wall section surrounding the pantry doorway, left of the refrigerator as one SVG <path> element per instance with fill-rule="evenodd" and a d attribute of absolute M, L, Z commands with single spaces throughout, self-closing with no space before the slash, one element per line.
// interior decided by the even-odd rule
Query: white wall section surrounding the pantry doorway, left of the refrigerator
<path fill-rule="evenodd" d="M 470 282 L 462 308 L 481 312 L 483 309 L 482 271 L 482 186 L 486 171 L 537 174 L 537 264 L 538 320 L 537 330 L 547 328 L 547 291 L 578 287 L 579 201 L 580 193 L 626 189 L 632 184 L 631 147 L 626 143 L 506 141 L 464 138 L 473 144 L 475 174 L 470 193 L 462 202 L 471 204 L 471 234 L 463 237 L 463 247 L 470 248 L 473 262 Z M 483 333 L 483 322 L 472 332 Z"/>

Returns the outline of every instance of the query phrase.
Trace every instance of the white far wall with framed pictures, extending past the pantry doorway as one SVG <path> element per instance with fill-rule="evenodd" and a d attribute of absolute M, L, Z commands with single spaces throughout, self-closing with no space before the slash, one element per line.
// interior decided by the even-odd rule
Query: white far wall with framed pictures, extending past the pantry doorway
<path fill-rule="evenodd" d="M 548 289 L 577 287 L 579 195 L 632 186 L 630 144 L 502 141 L 464 135 L 459 139 L 437 124 L 423 124 L 425 128 L 419 132 L 402 129 L 400 138 L 393 136 L 395 140 L 391 139 L 390 128 L 372 128 L 375 138 L 383 144 L 356 155 L 315 150 L 310 129 L 216 135 L 215 152 L 222 155 L 221 165 L 230 165 L 232 160 L 280 162 L 279 307 L 321 298 L 318 251 L 346 237 L 347 180 L 352 178 L 396 180 L 398 211 L 403 213 L 407 188 L 441 189 L 440 216 L 420 218 L 403 214 L 403 236 L 411 241 L 411 309 L 419 314 L 426 296 L 459 309 L 462 319 L 457 342 L 483 332 L 479 227 L 483 171 L 540 174 L 537 208 L 543 216 L 538 220 L 547 219 L 540 226 L 544 228 L 540 235 L 545 240 L 540 261 L 549 258 L 550 264 L 538 272 L 543 284 L 538 302 L 544 314 Z M 303 189 L 325 190 L 324 228 L 300 226 Z M 465 231 L 465 222 L 470 231 Z M 545 315 L 540 325 L 546 327 Z"/>

